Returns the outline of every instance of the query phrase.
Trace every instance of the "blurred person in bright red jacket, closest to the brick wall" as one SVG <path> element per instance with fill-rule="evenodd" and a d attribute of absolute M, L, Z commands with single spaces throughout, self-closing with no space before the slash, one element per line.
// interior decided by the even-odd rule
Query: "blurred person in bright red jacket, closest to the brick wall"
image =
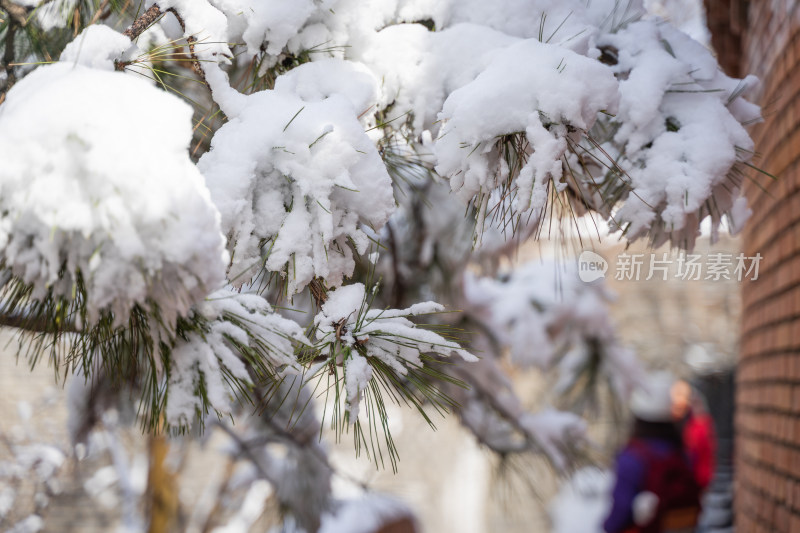
<path fill-rule="evenodd" d="M 701 490 L 705 490 L 714 475 L 716 435 L 700 393 L 685 381 L 672 387 L 672 414 L 681 427 L 683 446 Z"/>

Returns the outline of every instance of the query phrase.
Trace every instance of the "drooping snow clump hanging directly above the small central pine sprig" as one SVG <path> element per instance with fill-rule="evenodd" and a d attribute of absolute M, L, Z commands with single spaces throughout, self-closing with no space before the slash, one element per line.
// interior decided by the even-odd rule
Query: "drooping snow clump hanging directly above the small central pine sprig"
<path fill-rule="evenodd" d="M 357 118 L 363 109 L 353 107 L 372 79 L 338 70 L 342 96 L 331 79 L 314 85 L 304 68 L 324 66 L 298 67 L 276 90 L 247 96 L 198 163 L 231 243 L 231 279 L 244 283 L 263 265 L 280 272 L 289 294 L 314 277 L 341 284 L 355 266 L 353 249 L 363 254 L 369 245 L 362 227 L 380 228 L 395 207 L 386 168 Z"/>

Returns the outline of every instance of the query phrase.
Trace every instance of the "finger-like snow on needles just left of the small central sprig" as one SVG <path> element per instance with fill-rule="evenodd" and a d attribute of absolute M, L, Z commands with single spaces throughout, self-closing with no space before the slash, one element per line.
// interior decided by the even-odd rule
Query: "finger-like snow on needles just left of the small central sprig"
<path fill-rule="evenodd" d="M 309 344 L 302 328 L 275 313 L 261 296 L 221 289 L 197 306 L 206 331 L 191 332 L 170 355 L 166 419 L 171 425 L 205 416 L 197 394 L 202 384 L 210 406 L 230 413 L 236 383 L 252 384 L 242 352 L 249 350 L 278 375 L 299 372 L 294 343 Z"/>

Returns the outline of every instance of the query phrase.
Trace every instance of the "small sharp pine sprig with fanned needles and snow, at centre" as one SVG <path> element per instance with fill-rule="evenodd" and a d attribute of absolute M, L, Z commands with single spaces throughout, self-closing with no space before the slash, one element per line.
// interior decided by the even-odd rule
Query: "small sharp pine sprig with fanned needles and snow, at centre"
<path fill-rule="evenodd" d="M 420 327 L 410 317 L 439 313 L 444 308 L 435 302 L 415 304 L 407 309 L 374 309 L 376 287 L 367 292 L 354 283 L 328 292 L 328 299 L 314 317 L 317 352 L 325 358 L 317 366 L 322 381 L 335 390 L 331 423 L 338 431 L 356 426 L 355 438 L 364 438 L 359 421 L 360 405 L 366 401 L 365 417 L 369 438 L 377 421 L 384 427 L 392 465 L 396 451 L 386 427 L 382 392 L 396 403 L 414 406 L 428 420 L 425 408 L 449 411 L 455 404 L 441 391 L 443 383 L 462 385 L 440 368 L 437 357 L 458 355 L 463 361 L 477 358 L 432 328 Z M 331 379 L 333 383 L 331 383 Z M 438 382 L 438 383 L 437 383 Z M 340 398 L 346 403 L 339 411 Z M 361 437 L 360 437 L 361 435 Z M 364 441 L 366 444 L 366 441 Z M 377 460 L 377 458 L 376 458 Z"/>

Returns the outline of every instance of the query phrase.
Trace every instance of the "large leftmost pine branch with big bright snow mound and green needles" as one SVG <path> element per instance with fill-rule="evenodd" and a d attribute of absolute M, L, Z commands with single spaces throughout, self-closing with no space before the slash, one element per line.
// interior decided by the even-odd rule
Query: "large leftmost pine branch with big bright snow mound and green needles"
<path fill-rule="evenodd" d="M 301 327 L 256 295 L 216 290 L 228 253 L 191 162 L 191 108 L 112 72 L 127 37 L 93 26 L 0 110 L 3 293 L 35 361 L 103 369 L 141 389 L 143 423 L 228 413 L 253 382 L 299 372 Z M 135 49 L 135 47 L 133 47 Z M 66 104 L 65 104 L 66 102 Z M 216 290 L 216 292 L 215 292 Z M 197 418 L 196 418 L 197 415 Z"/>

